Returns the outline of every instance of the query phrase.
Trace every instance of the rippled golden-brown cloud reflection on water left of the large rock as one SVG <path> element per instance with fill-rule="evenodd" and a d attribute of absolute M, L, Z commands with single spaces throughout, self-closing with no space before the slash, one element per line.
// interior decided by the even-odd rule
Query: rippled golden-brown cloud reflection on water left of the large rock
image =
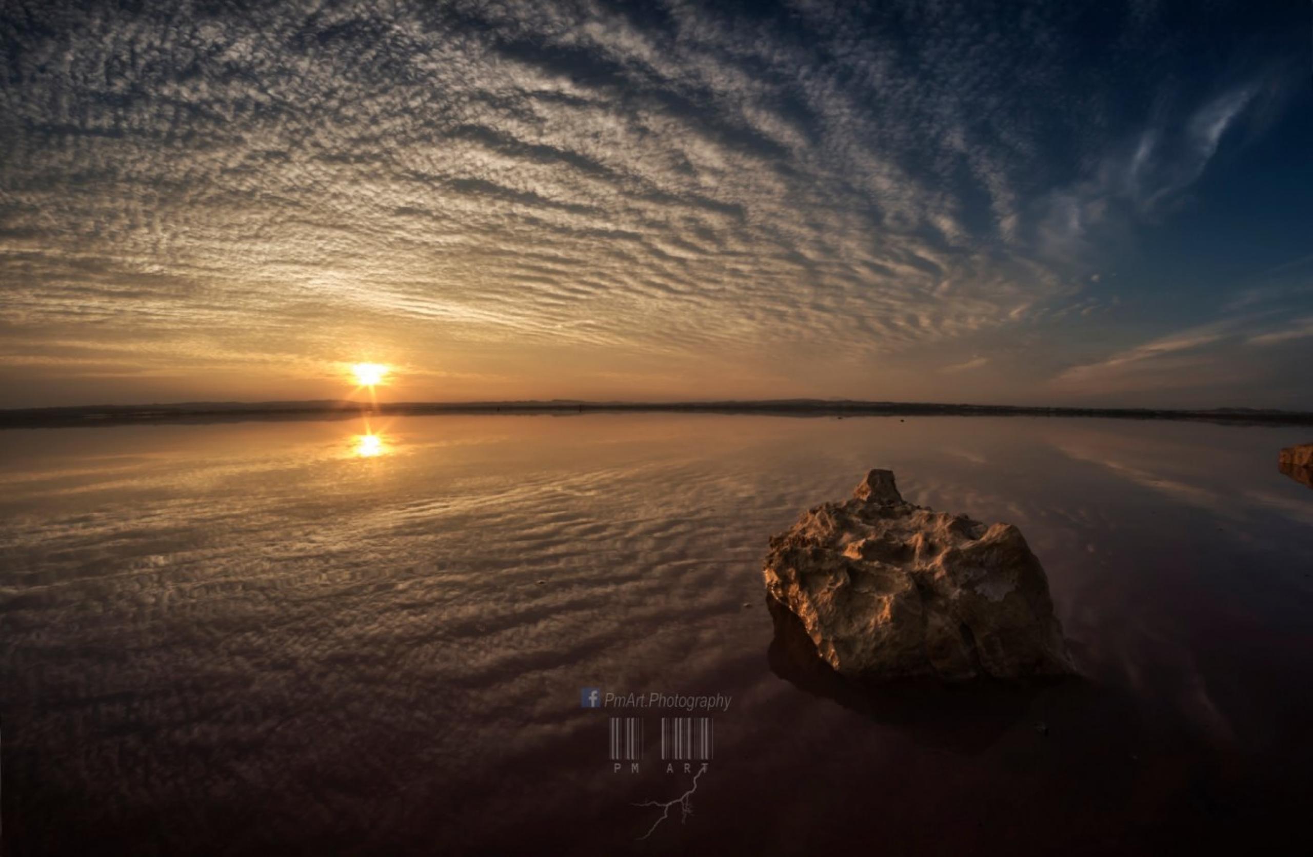
<path fill-rule="evenodd" d="M 523 718 L 559 717 L 562 688 L 579 684 L 580 663 L 612 682 L 635 668 L 637 681 L 680 651 L 695 655 L 681 659 L 683 681 L 696 681 L 700 664 L 720 663 L 718 617 L 755 585 L 750 564 L 747 575 L 720 574 L 727 563 L 751 563 L 750 551 L 713 529 L 729 522 L 739 497 L 725 491 L 738 483 L 678 462 L 663 475 L 651 465 L 607 462 L 453 474 L 442 461 L 416 457 L 418 470 L 381 499 L 360 484 L 334 496 L 341 483 L 310 459 L 299 479 L 286 480 L 269 461 L 211 467 L 222 470 L 223 490 L 194 500 L 152 496 L 163 484 L 154 474 L 139 486 L 144 496 L 112 512 L 7 528 L 7 541 L 30 556 L 29 574 L 41 566 L 46 580 L 39 610 L 22 609 L 37 606 L 30 585 L 24 604 L 8 605 L 26 626 L 18 634 L 25 656 L 60 660 L 63 647 L 32 637 L 38 629 L 62 626 L 79 646 L 98 647 L 151 627 L 155 644 L 150 634 L 137 643 L 147 669 L 119 672 L 114 692 L 169 696 L 168 676 L 196 676 L 217 713 L 290 710 L 297 728 L 312 728 L 328 745 L 357 731 L 358 722 L 341 715 L 348 711 L 397 735 L 428 726 L 425 742 L 446 769 L 471 772 L 524 752 L 536 731 L 524 731 Z M 252 474 L 273 480 L 252 491 Z M 185 470 L 177 483 L 194 484 Z M 704 512 L 709 503 L 723 509 L 720 517 Z M 705 550 L 691 550 L 695 541 Z M 85 601 L 114 621 L 67 621 Z M 741 621 L 737 612 L 731 621 Z M 205 640 L 213 644 L 200 644 L 218 627 L 223 633 Z M 91 690 L 84 661 L 60 669 L 72 700 Z M 239 700 L 222 677 L 246 673 L 294 675 L 301 693 L 288 696 L 274 681 L 243 688 Z M 445 693 L 439 698 L 425 682 Z M 488 722 L 499 710 L 513 717 Z M 74 723 L 101 715 L 75 711 Z M 221 744 L 251 738 L 222 723 L 211 728 Z M 160 736 L 171 738 L 168 730 Z"/>

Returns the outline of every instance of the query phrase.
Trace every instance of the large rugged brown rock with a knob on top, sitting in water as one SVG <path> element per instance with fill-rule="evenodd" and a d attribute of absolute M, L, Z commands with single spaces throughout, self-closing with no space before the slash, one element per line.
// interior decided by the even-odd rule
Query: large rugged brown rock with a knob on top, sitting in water
<path fill-rule="evenodd" d="M 764 575 L 843 675 L 1073 672 L 1048 579 L 1020 530 L 906 503 L 889 470 L 773 537 Z"/>

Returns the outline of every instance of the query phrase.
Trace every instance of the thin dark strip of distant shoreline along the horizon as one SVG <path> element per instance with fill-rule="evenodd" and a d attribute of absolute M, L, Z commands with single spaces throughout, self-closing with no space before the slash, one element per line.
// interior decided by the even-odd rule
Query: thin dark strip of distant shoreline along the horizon
<path fill-rule="evenodd" d="M 215 423 L 243 420 L 312 420 L 356 416 L 423 416 L 440 413 L 742 413 L 767 416 L 1048 416 L 1120 420 L 1192 420 L 1239 425 L 1313 425 L 1313 412 L 1254 408 L 1079 408 L 1004 404 L 939 404 L 771 399 L 748 402 L 190 402 L 180 404 L 75 406 L 0 411 L 0 429 L 150 423 Z"/>

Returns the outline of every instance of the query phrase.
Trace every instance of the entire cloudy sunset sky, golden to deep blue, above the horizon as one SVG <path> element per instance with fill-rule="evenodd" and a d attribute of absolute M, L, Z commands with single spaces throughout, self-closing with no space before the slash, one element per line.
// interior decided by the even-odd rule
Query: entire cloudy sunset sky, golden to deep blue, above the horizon
<path fill-rule="evenodd" d="M 0 0 L 0 407 L 369 361 L 1313 409 L 1301 0 Z"/>

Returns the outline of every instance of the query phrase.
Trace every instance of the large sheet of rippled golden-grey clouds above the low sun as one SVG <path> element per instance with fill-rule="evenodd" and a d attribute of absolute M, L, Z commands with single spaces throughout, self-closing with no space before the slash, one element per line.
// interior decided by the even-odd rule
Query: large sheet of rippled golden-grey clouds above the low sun
<path fill-rule="evenodd" d="M 1117 201 L 1186 188 L 1259 87 L 1091 122 L 1121 87 L 1070 62 L 1070 13 L 994 12 L 32 4 L 0 17 L 0 325 L 177 357 L 400 343 L 530 388 L 586 352 L 830 350 L 852 378 L 972 353 L 1092 311 Z"/>

